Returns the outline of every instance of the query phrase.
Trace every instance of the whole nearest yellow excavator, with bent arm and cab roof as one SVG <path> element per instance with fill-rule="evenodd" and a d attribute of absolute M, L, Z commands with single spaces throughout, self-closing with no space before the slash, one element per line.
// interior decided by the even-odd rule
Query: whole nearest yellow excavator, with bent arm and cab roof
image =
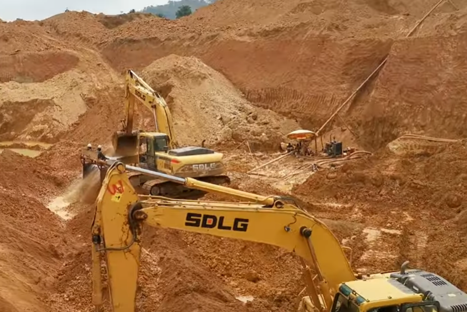
<path fill-rule="evenodd" d="M 127 170 L 141 169 L 114 162 L 96 201 L 92 224 L 92 300 L 96 311 L 103 305 L 101 257 L 105 256 L 112 312 L 135 312 L 145 224 L 265 243 L 295 253 L 304 266 L 307 286 L 298 308 L 301 312 L 467 311 L 467 294 L 437 274 L 408 269 L 408 262 L 399 271 L 354 273 L 330 229 L 284 198 L 171 176 L 163 178 L 243 198 L 244 202 L 138 196 Z"/>

